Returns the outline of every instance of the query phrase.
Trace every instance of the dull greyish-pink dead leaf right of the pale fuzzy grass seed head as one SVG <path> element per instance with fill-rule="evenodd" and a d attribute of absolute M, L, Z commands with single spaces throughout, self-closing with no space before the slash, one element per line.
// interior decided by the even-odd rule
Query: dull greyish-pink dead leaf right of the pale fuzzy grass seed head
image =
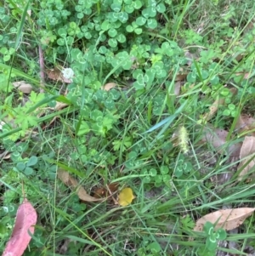
<path fill-rule="evenodd" d="M 212 144 L 219 153 L 228 154 L 228 156 L 239 156 L 241 143 L 235 143 L 226 147 L 228 134 L 229 132 L 224 129 L 205 127 L 201 141 Z"/>

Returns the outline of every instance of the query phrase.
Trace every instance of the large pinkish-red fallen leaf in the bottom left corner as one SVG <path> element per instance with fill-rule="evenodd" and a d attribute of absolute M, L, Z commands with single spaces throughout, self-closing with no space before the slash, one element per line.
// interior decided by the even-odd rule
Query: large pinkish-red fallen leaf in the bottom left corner
<path fill-rule="evenodd" d="M 18 208 L 14 230 L 7 242 L 3 256 L 21 256 L 31 241 L 29 232 L 34 234 L 34 225 L 36 224 L 37 212 L 25 198 Z"/>

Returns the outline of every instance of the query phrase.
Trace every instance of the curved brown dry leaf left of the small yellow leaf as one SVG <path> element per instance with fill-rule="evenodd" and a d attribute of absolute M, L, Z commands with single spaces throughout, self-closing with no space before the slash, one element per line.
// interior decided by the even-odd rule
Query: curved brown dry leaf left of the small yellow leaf
<path fill-rule="evenodd" d="M 63 183 L 65 183 L 65 185 L 70 186 L 72 190 L 77 190 L 77 196 L 79 196 L 79 198 L 82 201 L 84 202 L 102 201 L 102 199 L 100 198 L 89 196 L 88 193 L 83 189 L 83 187 L 78 184 L 77 179 L 74 179 L 73 177 L 71 177 L 71 175 L 68 174 L 68 172 L 59 169 L 58 177 Z"/>

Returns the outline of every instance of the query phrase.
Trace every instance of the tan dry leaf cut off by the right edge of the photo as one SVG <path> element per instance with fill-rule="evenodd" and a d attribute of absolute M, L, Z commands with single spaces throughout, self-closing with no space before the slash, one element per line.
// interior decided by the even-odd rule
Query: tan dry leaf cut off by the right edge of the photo
<path fill-rule="evenodd" d="M 244 168 L 239 174 L 238 180 L 241 180 L 243 176 L 248 174 L 249 171 L 254 167 L 255 165 L 254 157 L 255 157 L 255 137 L 246 136 L 241 146 L 241 151 L 240 151 L 241 162 L 238 166 L 238 169 L 242 167 Z"/>

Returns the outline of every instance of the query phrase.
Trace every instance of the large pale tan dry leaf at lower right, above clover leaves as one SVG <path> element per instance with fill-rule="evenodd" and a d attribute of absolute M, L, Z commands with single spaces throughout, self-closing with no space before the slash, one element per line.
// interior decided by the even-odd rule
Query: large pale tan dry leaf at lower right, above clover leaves
<path fill-rule="evenodd" d="M 213 213 L 209 213 L 198 219 L 195 223 L 195 231 L 203 230 L 203 227 L 207 221 L 215 225 L 215 229 L 234 230 L 239 227 L 249 216 L 252 215 L 255 208 L 237 208 L 218 210 Z"/>

